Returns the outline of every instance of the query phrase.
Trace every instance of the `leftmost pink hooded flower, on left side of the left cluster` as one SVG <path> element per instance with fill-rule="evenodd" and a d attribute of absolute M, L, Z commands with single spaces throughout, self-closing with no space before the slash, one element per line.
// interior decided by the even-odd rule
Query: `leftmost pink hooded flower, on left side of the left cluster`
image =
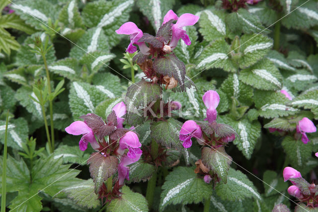
<path fill-rule="evenodd" d="M 84 121 L 74 121 L 70 126 L 65 128 L 65 131 L 72 135 L 83 135 L 79 140 L 79 149 L 85 151 L 87 149 L 87 144 L 90 143 L 91 147 L 95 150 L 99 148 L 94 133 L 87 126 Z"/>

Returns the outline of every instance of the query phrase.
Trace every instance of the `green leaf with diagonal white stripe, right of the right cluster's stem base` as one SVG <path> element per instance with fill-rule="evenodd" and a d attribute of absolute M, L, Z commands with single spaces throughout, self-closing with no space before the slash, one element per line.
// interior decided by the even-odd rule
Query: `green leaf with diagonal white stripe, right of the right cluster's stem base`
<path fill-rule="evenodd" d="M 235 201 L 244 200 L 245 198 L 253 197 L 262 200 L 253 183 L 248 180 L 247 176 L 239 170 L 230 168 L 228 175 L 228 183 L 219 183 L 215 187 L 218 196 L 223 200 Z"/>

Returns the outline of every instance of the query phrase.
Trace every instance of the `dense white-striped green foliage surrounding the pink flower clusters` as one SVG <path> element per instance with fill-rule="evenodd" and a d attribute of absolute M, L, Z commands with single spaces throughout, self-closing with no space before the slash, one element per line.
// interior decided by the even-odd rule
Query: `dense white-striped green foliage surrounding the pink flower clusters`
<path fill-rule="evenodd" d="M 201 150 L 194 139 L 190 149 L 172 146 L 163 166 L 142 160 L 133 164 L 122 188 L 123 200 L 132 205 L 116 199 L 106 210 L 148 210 L 143 196 L 155 172 L 152 211 L 271 211 L 281 203 L 294 210 L 297 201 L 287 193 L 283 169 L 291 166 L 309 183 L 318 183 L 318 133 L 308 133 L 307 144 L 295 134 L 303 117 L 317 125 L 318 2 L 248 2 L 0 0 L 1 155 L 9 111 L 5 165 L 0 157 L 1 175 L 6 167 L 6 207 L 62 212 L 102 208 L 86 164 L 94 150 L 88 146 L 80 151 L 81 136 L 69 135 L 65 128 L 87 113 L 106 119 L 124 101 L 130 81 L 144 76 L 133 55 L 125 53 L 128 36 L 115 30 L 133 21 L 155 35 L 164 14 L 173 9 L 179 16 L 200 16 L 185 28 L 191 45 L 180 40 L 173 50 L 195 86 L 175 93 L 163 89 L 163 99 L 181 103 L 173 121 L 182 125 L 189 119 L 203 121 L 203 94 L 218 92 L 217 122 L 231 125 L 239 135 L 225 148 L 233 162 L 223 177 L 245 186 L 234 181 L 206 184 L 198 177 L 194 167 Z M 151 120 L 140 125 L 136 131 L 143 146 L 159 137 L 181 142 L 181 127 L 156 128 Z M 271 133 L 268 128 L 279 130 Z M 191 185 L 171 193 L 189 179 L 194 179 Z"/>

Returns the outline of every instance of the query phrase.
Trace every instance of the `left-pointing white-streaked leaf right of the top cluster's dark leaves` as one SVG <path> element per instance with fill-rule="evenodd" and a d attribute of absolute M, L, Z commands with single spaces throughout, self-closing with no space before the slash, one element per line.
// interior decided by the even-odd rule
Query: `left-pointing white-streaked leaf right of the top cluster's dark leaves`
<path fill-rule="evenodd" d="M 236 65 L 229 59 L 230 45 L 224 40 L 216 40 L 203 50 L 198 57 L 197 69 L 222 68 L 235 72 Z"/>

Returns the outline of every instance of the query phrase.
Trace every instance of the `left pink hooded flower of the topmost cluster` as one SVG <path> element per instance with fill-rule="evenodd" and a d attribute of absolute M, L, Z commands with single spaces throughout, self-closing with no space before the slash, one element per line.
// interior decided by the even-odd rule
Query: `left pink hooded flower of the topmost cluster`
<path fill-rule="evenodd" d="M 126 22 L 116 30 L 117 34 L 130 35 L 130 44 L 127 47 L 126 52 L 134 53 L 137 51 L 137 47 L 133 44 L 137 44 L 139 46 L 140 51 L 149 55 L 148 51 L 150 50 L 145 42 L 138 42 L 138 40 L 143 36 L 143 31 L 138 28 L 138 26 L 133 22 Z"/>

